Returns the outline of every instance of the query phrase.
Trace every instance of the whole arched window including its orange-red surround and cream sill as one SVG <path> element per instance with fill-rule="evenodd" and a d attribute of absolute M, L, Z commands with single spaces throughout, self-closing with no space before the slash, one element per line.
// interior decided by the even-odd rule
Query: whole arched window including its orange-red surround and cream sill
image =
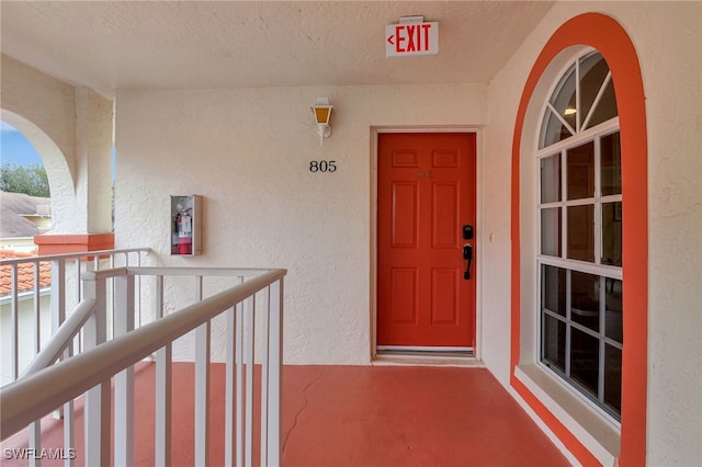
<path fill-rule="evenodd" d="M 510 386 L 582 465 L 646 464 L 647 140 L 624 29 L 563 23 L 514 123 Z"/>

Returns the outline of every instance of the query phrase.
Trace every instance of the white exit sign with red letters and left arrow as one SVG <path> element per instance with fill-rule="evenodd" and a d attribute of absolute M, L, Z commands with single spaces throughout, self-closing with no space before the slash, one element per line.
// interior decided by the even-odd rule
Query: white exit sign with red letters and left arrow
<path fill-rule="evenodd" d="M 439 54 L 439 23 L 422 16 L 406 16 L 385 26 L 385 57 Z"/>

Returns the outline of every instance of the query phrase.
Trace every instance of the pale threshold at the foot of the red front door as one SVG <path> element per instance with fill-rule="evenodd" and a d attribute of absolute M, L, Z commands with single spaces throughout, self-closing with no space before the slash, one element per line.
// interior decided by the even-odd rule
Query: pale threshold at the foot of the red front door
<path fill-rule="evenodd" d="M 473 349 L 419 350 L 415 348 L 378 346 L 373 365 L 409 365 L 409 366 L 465 366 L 484 367 L 473 353 Z"/>

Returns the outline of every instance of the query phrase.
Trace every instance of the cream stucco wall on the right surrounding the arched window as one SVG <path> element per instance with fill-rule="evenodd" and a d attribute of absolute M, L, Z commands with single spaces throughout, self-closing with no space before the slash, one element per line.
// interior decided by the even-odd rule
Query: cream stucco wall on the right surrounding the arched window
<path fill-rule="evenodd" d="M 534 59 L 568 19 L 616 20 L 641 61 L 648 129 L 649 465 L 702 463 L 702 3 L 559 2 L 491 81 L 483 176 L 483 357 L 509 377 L 509 178 L 519 98 Z M 499 178 L 498 174 L 506 176 Z M 489 298 L 488 298 L 489 297 Z M 489 310 L 489 311 L 488 311 Z"/>

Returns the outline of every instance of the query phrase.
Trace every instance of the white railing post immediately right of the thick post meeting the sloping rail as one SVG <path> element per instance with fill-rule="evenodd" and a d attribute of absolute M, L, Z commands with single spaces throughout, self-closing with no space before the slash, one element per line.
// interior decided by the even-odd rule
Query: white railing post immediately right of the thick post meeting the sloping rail
<path fill-rule="evenodd" d="M 114 335 L 134 330 L 134 275 L 114 282 Z M 114 464 L 134 465 L 134 366 L 114 377 Z"/>

